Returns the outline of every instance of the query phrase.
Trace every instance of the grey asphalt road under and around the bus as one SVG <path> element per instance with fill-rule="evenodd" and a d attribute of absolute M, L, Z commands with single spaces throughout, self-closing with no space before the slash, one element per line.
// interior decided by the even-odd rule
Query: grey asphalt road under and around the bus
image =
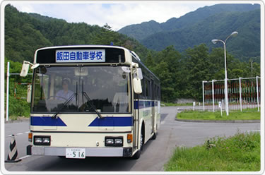
<path fill-rule="evenodd" d="M 143 147 L 139 159 L 121 157 L 87 157 L 86 159 L 61 159 L 59 157 L 26 156 L 28 121 L 5 124 L 5 159 L 9 152 L 11 134 L 16 135 L 18 163 L 5 163 L 6 171 L 163 171 L 176 146 L 201 145 L 216 135 L 230 136 L 237 131 L 260 130 L 260 123 L 190 123 L 175 121 L 177 107 L 161 108 L 161 125 L 155 140 Z M 1 155 L 2 156 L 2 155 Z"/>

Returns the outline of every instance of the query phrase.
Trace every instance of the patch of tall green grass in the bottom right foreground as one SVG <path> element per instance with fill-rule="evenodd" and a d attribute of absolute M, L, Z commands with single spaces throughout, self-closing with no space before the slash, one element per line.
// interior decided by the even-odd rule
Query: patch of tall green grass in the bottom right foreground
<path fill-rule="evenodd" d="M 177 147 L 165 171 L 260 171 L 260 134 L 216 137 L 196 147 Z"/>

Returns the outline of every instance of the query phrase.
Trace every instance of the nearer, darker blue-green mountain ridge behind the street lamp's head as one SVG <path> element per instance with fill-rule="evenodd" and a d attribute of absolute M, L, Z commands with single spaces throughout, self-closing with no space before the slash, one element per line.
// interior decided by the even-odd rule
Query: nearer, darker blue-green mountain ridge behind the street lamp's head
<path fill-rule="evenodd" d="M 174 45 L 180 52 L 201 43 L 206 43 L 208 47 L 223 47 L 223 44 L 213 45 L 211 40 L 225 40 L 230 33 L 236 30 L 239 35 L 227 43 L 228 52 L 239 58 L 242 56 L 253 57 L 259 55 L 260 51 L 259 16 L 259 10 L 243 13 L 219 13 L 187 28 L 174 32 L 155 33 L 141 40 L 141 43 L 155 50 Z M 225 30 L 223 30 L 224 28 Z"/>

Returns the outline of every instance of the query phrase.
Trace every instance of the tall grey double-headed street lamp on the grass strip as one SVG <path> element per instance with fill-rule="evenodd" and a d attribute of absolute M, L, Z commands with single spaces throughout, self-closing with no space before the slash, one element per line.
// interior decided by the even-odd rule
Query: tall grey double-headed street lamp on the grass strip
<path fill-rule="evenodd" d="M 226 49 L 225 49 L 225 43 L 228 40 L 229 37 L 235 37 L 237 36 L 238 32 L 232 32 L 226 39 L 225 41 L 223 40 L 211 40 L 211 42 L 213 42 L 213 44 L 216 44 L 217 42 L 223 42 L 223 49 L 225 51 L 225 111 L 226 111 L 226 115 L 229 115 L 229 111 L 228 111 L 228 73 L 226 71 Z"/>

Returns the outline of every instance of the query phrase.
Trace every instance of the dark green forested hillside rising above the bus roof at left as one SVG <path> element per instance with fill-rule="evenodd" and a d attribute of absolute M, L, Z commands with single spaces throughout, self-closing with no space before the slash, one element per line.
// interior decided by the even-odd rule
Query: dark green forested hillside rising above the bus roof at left
<path fill-rule="evenodd" d="M 66 20 L 21 13 L 11 5 L 5 7 L 5 58 L 12 61 L 33 61 L 40 47 L 59 45 L 102 44 L 126 47 L 145 57 L 148 49 L 110 26 L 67 23 Z"/>

